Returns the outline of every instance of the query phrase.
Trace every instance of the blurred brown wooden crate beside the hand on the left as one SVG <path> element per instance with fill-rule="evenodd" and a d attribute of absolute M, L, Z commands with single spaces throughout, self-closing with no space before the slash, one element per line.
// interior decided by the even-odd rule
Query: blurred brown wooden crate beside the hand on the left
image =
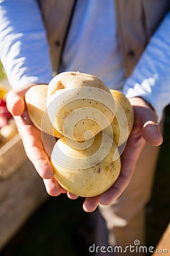
<path fill-rule="evenodd" d="M 0 172 L 1 251 L 48 194 L 18 134 L 0 148 Z"/>

